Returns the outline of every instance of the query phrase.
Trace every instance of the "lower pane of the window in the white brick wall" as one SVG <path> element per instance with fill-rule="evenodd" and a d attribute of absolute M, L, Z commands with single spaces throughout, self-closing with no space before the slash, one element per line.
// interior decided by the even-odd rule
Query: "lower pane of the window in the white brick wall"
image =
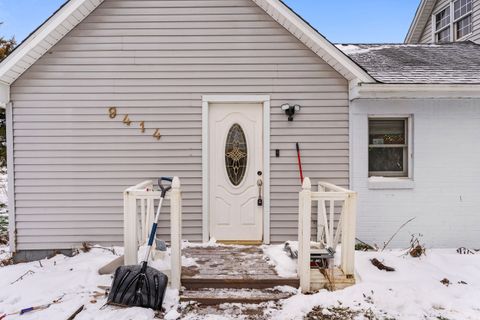
<path fill-rule="evenodd" d="M 368 152 L 370 172 L 405 172 L 404 152 L 406 148 L 370 148 Z"/>

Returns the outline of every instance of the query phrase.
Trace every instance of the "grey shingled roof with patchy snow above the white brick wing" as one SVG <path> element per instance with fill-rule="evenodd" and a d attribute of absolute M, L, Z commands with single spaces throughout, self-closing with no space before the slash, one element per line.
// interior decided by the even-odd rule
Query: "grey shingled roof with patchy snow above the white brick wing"
<path fill-rule="evenodd" d="M 480 84 L 480 45 L 338 45 L 377 81 L 388 84 Z"/>

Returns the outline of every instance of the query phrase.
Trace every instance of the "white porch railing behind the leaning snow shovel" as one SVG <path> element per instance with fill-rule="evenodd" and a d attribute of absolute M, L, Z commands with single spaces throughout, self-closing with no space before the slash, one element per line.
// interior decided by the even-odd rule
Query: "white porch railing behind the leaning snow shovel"
<path fill-rule="evenodd" d="M 126 265 L 138 263 L 138 248 L 147 242 L 153 219 L 155 218 L 155 201 L 160 199 L 160 195 L 161 191 L 154 189 L 152 181 L 144 181 L 128 188 L 123 193 Z M 180 289 L 182 268 L 182 197 L 180 179 L 178 177 L 173 178 L 172 190 L 167 193 L 166 199 L 170 199 L 170 283 L 173 288 Z"/>

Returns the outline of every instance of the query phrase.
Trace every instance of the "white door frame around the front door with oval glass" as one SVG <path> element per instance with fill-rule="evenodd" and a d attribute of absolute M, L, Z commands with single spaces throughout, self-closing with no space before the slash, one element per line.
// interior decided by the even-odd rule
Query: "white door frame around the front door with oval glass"
<path fill-rule="evenodd" d="M 212 103 L 252 103 L 263 105 L 263 243 L 270 244 L 270 96 L 208 95 L 202 96 L 202 239 L 210 239 L 209 190 L 209 116 Z"/>

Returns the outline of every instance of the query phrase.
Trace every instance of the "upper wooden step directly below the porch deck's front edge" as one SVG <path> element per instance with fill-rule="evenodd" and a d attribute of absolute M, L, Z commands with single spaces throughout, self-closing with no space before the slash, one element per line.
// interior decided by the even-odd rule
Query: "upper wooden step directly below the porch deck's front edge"
<path fill-rule="evenodd" d="M 297 278 L 280 277 L 232 277 L 212 276 L 201 278 L 182 278 L 182 286 L 187 290 L 198 290 L 203 288 L 215 289 L 269 289 L 277 286 L 290 286 L 298 288 L 300 280 Z"/>

